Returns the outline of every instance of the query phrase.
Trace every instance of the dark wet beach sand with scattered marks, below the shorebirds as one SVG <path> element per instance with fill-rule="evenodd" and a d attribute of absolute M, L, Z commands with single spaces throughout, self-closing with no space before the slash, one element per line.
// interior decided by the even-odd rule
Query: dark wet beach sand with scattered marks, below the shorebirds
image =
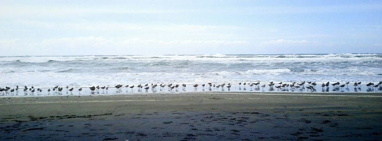
<path fill-rule="evenodd" d="M 382 140 L 382 97 L 278 94 L 1 97 L 0 140 Z"/>

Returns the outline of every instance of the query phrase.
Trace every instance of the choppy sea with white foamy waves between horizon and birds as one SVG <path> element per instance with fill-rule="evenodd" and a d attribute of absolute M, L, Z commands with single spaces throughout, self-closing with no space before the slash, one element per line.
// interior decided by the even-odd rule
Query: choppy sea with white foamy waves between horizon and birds
<path fill-rule="evenodd" d="M 0 57 L 0 87 L 382 81 L 382 54 Z"/>

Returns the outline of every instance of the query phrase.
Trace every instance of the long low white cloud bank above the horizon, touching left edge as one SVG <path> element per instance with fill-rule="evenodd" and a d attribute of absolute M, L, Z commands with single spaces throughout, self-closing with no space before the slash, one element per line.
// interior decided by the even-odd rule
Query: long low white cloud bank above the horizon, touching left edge
<path fill-rule="evenodd" d="M 157 40 L 113 39 L 105 37 L 76 37 L 45 39 L 40 43 L 7 43 L 4 55 L 142 55 L 142 54 L 200 54 L 216 53 L 245 45 L 246 41 L 226 40 Z M 21 42 L 21 41 L 20 41 Z M 34 51 L 31 51 L 34 50 Z M 40 51 L 37 51 L 40 50 Z M 207 50 L 207 51 L 206 51 Z"/>

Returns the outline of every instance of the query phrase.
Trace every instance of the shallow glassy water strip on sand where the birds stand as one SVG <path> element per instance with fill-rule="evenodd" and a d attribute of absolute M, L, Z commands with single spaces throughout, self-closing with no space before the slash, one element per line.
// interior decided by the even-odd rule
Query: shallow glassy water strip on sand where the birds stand
<path fill-rule="evenodd" d="M 217 84 L 216 84 L 217 85 Z M 304 87 L 302 88 L 281 88 L 278 89 L 275 86 L 279 86 L 276 84 L 273 87 L 270 87 L 268 85 L 265 85 L 264 88 L 261 87 L 263 84 L 259 84 L 258 86 L 253 86 L 252 88 L 247 84 L 244 88 L 244 85 L 238 85 L 238 84 L 231 84 L 231 88 L 227 88 L 227 84 L 220 88 L 215 88 L 215 87 L 209 87 L 205 86 L 204 88 L 199 85 L 196 89 L 192 85 L 187 85 L 186 88 L 183 88 L 182 86 L 179 86 L 178 89 L 169 89 L 167 86 L 164 88 L 160 88 L 159 86 L 156 89 L 152 89 L 151 86 L 149 89 L 138 89 L 137 87 L 134 87 L 133 89 L 131 88 L 109 88 L 107 91 L 104 89 L 96 89 L 94 92 L 92 92 L 89 88 L 82 88 L 83 90 L 81 92 L 78 91 L 79 88 L 74 88 L 72 92 L 68 91 L 66 88 L 63 88 L 61 92 L 55 90 L 55 91 L 50 91 L 48 92 L 47 90 L 50 89 L 52 90 L 53 88 L 40 88 L 42 89 L 42 92 L 37 92 L 38 88 L 34 88 L 35 92 L 31 92 L 29 89 L 27 91 L 23 91 L 23 89 L 19 89 L 18 91 L 15 92 L 3 92 L 0 93 L 1 96 L 63 96 L 63 95 L 115 95 L 115 94 L 163 94 L 163 93 L 181 93 L 181 92 L 304 92 L 306 94 L 311 94 L 311 93 L 317 93 L 317 92 L 325 92 L 325 93 L 333 93 L 333 92 L 354 92 L 359 95 L 359 96 L 369 96 L 370 94 L 373 94 L 375 92 L 382 92 L 382 87 L 367 87 L 366 84 L 361 84 L 360 86 L 354 87 L 353 85 L 349 84 L 348 86 L 345 86 L 343 89 L 340 87 L 324 87 L 322 88 L 321 86 L 316 86 L 316 88 L 311 91 L 310 89 L 307 89 L 306 86 L 308 84 L 304 84 Z M 71 88 L 71 87 L 70 87 Z M 68 89 L 70 89 L 68 88 Z M 31 89 L 33 90 L 33 89 Z M 361 93 L 359 93 L 361 92 Z"/>

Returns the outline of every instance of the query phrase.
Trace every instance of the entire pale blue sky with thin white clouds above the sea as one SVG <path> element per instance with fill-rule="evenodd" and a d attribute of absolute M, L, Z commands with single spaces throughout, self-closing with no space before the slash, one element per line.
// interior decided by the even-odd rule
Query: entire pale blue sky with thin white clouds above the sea
<path fill-rule="evenodd" d="M 0 2 L 0 56 L 382 53 L 380 0 Z"/>

